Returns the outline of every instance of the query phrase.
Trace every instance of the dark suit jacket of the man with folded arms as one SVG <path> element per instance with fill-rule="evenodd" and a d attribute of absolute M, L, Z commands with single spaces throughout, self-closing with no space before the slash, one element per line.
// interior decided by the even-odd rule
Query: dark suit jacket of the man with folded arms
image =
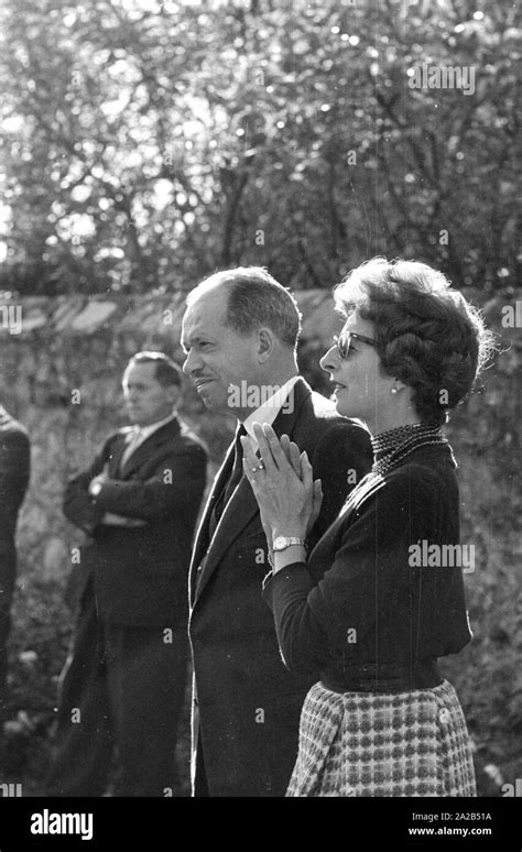
<path fill-rule="evenodd" d="M 64 513 L 91 535 L 80 548 L 67 597 L 78 602 L 91 575 L 100 618 L 133 626 L 183 627 L 194 527 L 205 491 L 206 452 L 177 420 L 153 433 L 119 471 L 129 429 L 107 440 L 93 466 L 67 485 Z M 90 480 L 109 466 L 100 494 Z M 144 521 L 102 524 L 106 512 Z"/>

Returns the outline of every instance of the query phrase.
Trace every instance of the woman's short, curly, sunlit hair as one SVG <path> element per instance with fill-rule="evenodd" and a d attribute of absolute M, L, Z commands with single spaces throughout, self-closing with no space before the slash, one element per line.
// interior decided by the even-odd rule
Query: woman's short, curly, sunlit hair
<path fill-rule="evenodd" d="M 373 258 L 334 295 L 344 316 L 357 310 L 374 324 L 382 369 L 413 389 L 422 420 L 444 424 L 494 350 L 480 312 L 425 263 Z"/>

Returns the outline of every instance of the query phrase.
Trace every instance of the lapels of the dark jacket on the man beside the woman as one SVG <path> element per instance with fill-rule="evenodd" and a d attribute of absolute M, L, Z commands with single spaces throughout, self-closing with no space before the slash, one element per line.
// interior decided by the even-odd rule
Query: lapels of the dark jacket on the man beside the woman
<path fill-rule="evenodd" d="M 273 423 L 273 429 L 280 437 L 283 434 L 292 436 L 300 408 L 304 400 L 312 393 L 303 379 L 300 379 L 293 387 L 294 406 L 292 413 L 281 409 Z M 208 524 L 210 514 L 221 489 L 230 473 L 232 466 L 233 444 L 230 445 L 227 457 L 215 479 L 214 488 L 205 506 L 199 529 L 197 532 L 194 557 L 191 566 L 191 604 L 194 605 L 202 594 L 213 572 L 219 566 L 227 550 L 233 545 L 252 517 L 259 512 L 248 479 L 243 476 L 232 496 L 225 506 L 224 513 L 214 532 L 211 542 L 208 542 Z M 205 558 L 206 557 L 206 558 Z M 202 568 L 197 579 L 197 569 Z M 196 593 L 197 580 L 197 593 Z"/>

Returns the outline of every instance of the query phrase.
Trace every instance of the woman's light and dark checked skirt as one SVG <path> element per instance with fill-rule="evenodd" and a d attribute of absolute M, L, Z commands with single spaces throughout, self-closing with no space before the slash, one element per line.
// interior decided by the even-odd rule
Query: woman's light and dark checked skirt
<path fill-rule="evenodd" d="M 338 693 L 315 684 L 301 713 L 286 796 L 476 796 L 457 693 Z"/>

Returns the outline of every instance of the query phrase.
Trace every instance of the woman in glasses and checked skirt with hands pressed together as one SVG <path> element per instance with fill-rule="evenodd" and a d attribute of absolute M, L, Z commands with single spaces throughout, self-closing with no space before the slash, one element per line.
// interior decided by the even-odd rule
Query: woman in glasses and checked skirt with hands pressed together
<path fill-rule="evenodd" d="M 306 531 L 322 492 L 306 455 L 270 427 L 254 426 L 259 455 L 243 439 L 281 654 L 291 670 L 320 671 L 286 795 L 476 796 L 463 711 L 437 668 L 471 638 L 463 568 L 472 570 L 441 427 L 471 390 L 491 335 L 423 263 L 373 259 L 335 299 L 346 323 L 320 364 L 337 411 L 368 425 L 374 463 L 312 553 Z"/>

